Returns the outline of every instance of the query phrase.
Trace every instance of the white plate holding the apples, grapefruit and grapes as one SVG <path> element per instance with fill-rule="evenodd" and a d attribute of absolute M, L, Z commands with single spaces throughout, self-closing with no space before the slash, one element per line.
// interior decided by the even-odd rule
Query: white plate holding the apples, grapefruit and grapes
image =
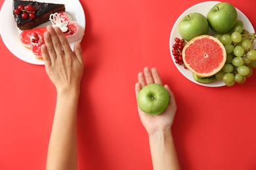
<path fill-rule="evenodd" d="M 175 41 L 174 41 L 175 37 L 181 38 L 181 35 L 179 34 L 179 22 L 181 22 L 182 18 L 184 18 L 184 16 L 186 16 L 187 14 L 190 14 L 191 12 L 200 12 L 201 14 L 203 14 L 206 17 L 209 10 L 217 3 L 219 3 L 219 2 L 218 1 L 207 1 L 207 2 L 203 2 L 203 3 L 198 3 L 198 4 L 194 5 L 193 7 L 190 7 L 189 9 L 185 10 L 181 14 L 181 16 L 179 16 L 179 18 L 173 25 L 173 29 L 171 30 L 171 36 L 170 36 L 170 40 L 169 40 L 170 52 L 173 50 L 172 47 L 173 47 L 173 44 L 175 44 Z M 251 22 L 248 20 L 248 18 L 240 10 L 238 10 L 238 9 L 236 9 L 236 10 L 238 12 L 238 20 L 242 20 L 242 22 L 244 23 L 244 29 L 247 29 L 247 31 L 249 31 L 249 33 L 254 33 L 255 31 L 253 29 L 253 25 L 251 25 Z M 209 29 L 208 34 L 213 35 L 214 33 L 213 33 L 213 31 L 211 31 L 211 29 Z M 254 43 L 253 46 L 256 46 L 256 44 Z M 175 59 L 174 59 L 172 52 L 171 52 L 171 58 L 173 59 L 173 62 L 175 63 Z M 175 65 L 177 65 L 177 63 L 175 63 Z M 184 69 L 183 65 L 177 65 L 177 69 L 179 69 L 179 71 L 182 73 L 182 75 L 184 75 L 186 78 L 188 78 L 189 80 L 191 80 L 192 82 L 194 82 L 196 84 L 200 84 L 202 86 L 208 86 L 208 87 L 225 86 L 225 84 L 222 80 L 216 80 L 215 82 L 211 82 L 209 84 L 202 84 L 202 83 L 194 80 L 191 71 L 189 71 L 188 69 Z"/>

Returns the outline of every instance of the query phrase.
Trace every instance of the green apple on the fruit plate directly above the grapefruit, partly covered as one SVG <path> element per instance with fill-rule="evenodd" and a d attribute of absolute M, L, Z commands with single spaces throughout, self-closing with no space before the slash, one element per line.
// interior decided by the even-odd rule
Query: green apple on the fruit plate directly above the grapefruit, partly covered
<path fill-rule="evenodd" d="M 198 12 L 184 16 L 181 22 L 179 22 L 179 34 L 186 41 L 190 41 L 200 35 L 207 35 L 208 31 L 209 24 L 207 18 Z"/>

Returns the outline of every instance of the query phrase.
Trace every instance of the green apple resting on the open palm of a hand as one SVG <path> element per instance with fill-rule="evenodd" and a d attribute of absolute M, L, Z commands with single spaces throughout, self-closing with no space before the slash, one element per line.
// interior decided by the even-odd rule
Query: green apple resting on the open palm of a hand
<path fill-rule="evenodd" d="M 169 103 L 169 93 L 160 84 L 148 84 L 138 94 L 138 106 L 147 114 L 160 114 Z"/>

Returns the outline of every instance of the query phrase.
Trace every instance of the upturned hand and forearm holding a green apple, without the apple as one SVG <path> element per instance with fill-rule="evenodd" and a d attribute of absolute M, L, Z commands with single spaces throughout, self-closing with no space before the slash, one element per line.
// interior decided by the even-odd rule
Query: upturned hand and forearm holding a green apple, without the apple
<path fill-rule="evenodd" d="M 138 82 L 135 84 L 136 97 L 144 86 L 152 83 L 163 85 L 158 70 L 156 68 L 150 70 L 148 67 L 145 67 L 144 73 L 140 72 L 138 74 Z M 142 125 L 148 132 L 154 170 L 176 170 L 180 169 L 180 165 L 171 133 L 171 126 L 177 105 L 169 86 L 165 85 L 164 87 L 169 93 L 170 101 L 167 108 L 161 114 L 146 114 L 139 107 L 138 112 Z"/>

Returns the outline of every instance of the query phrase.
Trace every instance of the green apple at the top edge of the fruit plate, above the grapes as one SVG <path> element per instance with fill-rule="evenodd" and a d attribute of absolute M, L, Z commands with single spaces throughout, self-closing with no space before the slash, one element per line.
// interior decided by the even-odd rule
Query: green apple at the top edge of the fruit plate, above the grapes
<path fill-rule="evenodd" d="M 207 14 L 209 27 L 216 33 L 228 33 L 236 24 L 238 13 L 230 3 L 217 3 Z"/>

